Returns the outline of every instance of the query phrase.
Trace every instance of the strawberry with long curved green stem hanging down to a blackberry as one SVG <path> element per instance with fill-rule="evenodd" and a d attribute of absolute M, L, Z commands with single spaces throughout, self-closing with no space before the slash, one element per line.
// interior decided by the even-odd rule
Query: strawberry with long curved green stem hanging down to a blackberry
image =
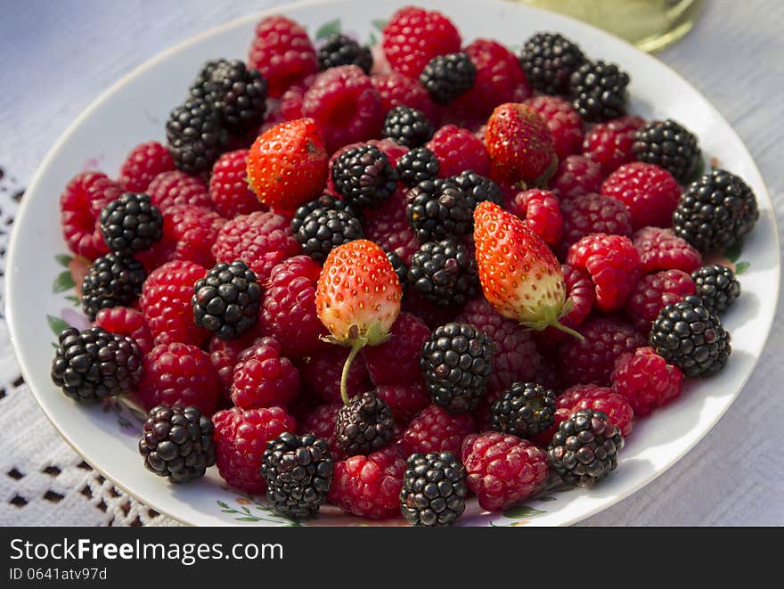
<path fill-rule="evenodd" d="M 349 405 L 348 369 L 365 346 L 389 339 L 400 314 L 403 290 L 387 254 L 372 241 L 349 241 L 330 252 L 315 292 L 316 315 L 330 331 L 325 339 L 351 348 L 340 378 L 340 395 Z"/>

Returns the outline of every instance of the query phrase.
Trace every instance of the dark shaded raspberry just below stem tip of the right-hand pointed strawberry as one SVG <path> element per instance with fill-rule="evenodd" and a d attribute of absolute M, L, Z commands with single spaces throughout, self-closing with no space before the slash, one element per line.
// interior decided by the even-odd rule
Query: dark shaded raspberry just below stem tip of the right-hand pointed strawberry
<path fill-rule="evenodd" d="M 585 338 L 571 338 L 559 346 L 559 366 L 570 384 L 593 382 L 608 386 L 616 360 L 645 345 L 645 338 L 631 325 L 595 318 L 580 326 Z"/>

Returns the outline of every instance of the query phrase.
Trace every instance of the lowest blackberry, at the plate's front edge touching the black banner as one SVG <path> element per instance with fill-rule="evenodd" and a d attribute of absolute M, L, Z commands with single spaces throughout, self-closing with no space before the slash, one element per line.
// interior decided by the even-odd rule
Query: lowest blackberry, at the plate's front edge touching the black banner
<path fill-rule="evenodd" d="M 451 452 L 412 454 L 405 462 L 400 512 L 412 526 L 449 526 L 465 511 L 466 470 Z"/>

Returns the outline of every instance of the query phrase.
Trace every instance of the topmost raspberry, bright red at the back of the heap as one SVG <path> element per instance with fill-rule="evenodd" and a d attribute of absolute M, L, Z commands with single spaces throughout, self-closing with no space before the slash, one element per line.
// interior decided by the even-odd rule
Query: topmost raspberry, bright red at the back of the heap
<path fill-rule="evenodd" d="M 460 33 L 437 11 L 406 6 L 392 15 L 382 33 L 389 66 L 409 78 L 419 78 L 437 55 L 460 51 Z"/>

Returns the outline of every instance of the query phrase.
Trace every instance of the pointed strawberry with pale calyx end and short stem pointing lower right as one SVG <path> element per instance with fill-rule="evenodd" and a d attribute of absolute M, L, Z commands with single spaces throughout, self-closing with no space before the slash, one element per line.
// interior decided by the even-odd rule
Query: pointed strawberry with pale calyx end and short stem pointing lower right
<path fill-rule="evenodd" d="M 530 329 L 551 326 L 583 339 L 559 323 L 572 308 L 563 271 L 525 222 L 493 202 L 482 202 L 474 211 L 474 242 L 482 290 L 500 315 Z"/>

